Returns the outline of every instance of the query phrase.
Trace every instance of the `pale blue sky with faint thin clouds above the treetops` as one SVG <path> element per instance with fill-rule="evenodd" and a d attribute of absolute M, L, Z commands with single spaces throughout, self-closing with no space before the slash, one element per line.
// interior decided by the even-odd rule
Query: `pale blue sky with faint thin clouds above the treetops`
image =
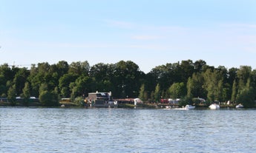
<path fill-rule="evenodd" d="M 256 69 L 255 0 L 0 0 L 0 64 Z"/>

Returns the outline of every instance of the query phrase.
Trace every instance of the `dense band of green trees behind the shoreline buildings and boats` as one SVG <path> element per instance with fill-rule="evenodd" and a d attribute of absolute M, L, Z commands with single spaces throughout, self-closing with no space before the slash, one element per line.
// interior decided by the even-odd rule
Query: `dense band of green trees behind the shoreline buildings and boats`
<path fill-rule="evenodd" d="M 60 98 L 82 98 L 88 92 L 112 92 L 114 98 L 205 98 L 232 101 L 246 107 L 255 105 L 256 69 L 250 66 L 226 69 L 211 67 L 206 61 L 181 61 L 151 69 L 145 74 L 133 61 L 95 64 L 78 61 L 68 64 L 32 64 L 30 69 L 2 64 L 0 97 L 15 105 L 20 96 L 27 103 L 33 96 L 45 106 L 56 106 Z"/>

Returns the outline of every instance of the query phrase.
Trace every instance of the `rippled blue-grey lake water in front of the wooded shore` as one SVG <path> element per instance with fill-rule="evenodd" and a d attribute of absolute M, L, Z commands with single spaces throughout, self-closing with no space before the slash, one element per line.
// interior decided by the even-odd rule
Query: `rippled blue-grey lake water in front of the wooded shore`
<path fill-rule="evenodd" d="M 0 108 L 0 152 L 256 152 L 256 110 Z"/>

